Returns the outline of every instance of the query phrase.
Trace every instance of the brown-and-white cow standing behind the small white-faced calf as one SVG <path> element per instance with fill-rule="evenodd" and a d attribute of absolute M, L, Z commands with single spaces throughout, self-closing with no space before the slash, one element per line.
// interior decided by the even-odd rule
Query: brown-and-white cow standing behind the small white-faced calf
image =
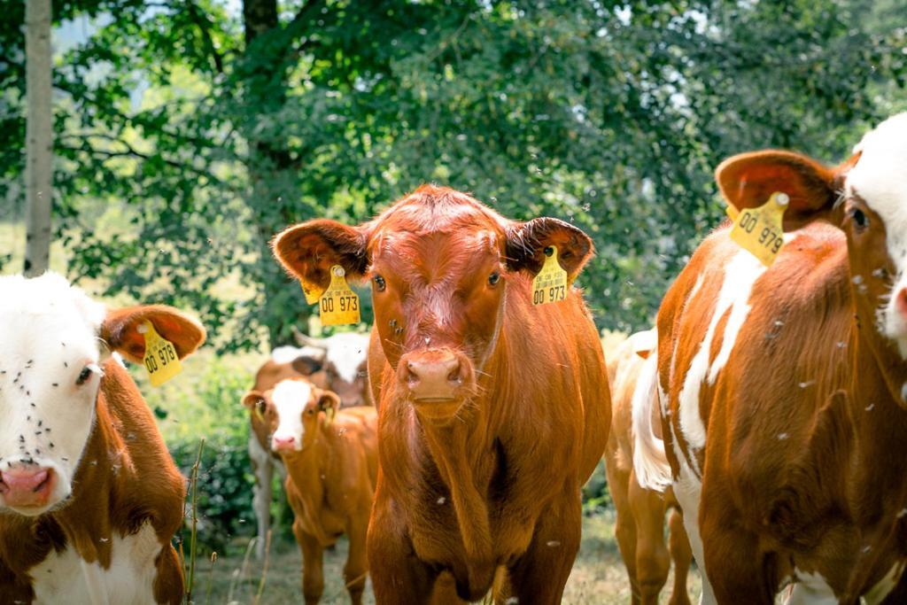
<path fill-rule="evenodd" d="M 367 395 L 365 371 L 367 335 L 341 333 L 327 338 L 311 338 L 297 334 L 303 346 L 278 346 L 271 356 L 258 368 L 255 382 L 248 394 L 261 394 L 273 388 L 281 380 L 294 376 L 307 376 L 322 389 L 335 390 L 341 395 L 341 407 L 365 405 L 370 402 Z M 247 395 L 248 395 L 247 394 Z M 344 396 L 346 395 L 346 396 Z M 244 401 L 259 401 L 260 397 L 246 397 Z M 258 520 L 258 541 L 256 554 L 263 559 L 266 537 L 270 528 L 271 480 L 277 470 L 283 479 L 286 469 L 280 456 L 271 451 L 268 444 L 270 434 L 264 422 L 262 409 L 249 409 L 249 460 L 255 475 L 252 506 Z"/>

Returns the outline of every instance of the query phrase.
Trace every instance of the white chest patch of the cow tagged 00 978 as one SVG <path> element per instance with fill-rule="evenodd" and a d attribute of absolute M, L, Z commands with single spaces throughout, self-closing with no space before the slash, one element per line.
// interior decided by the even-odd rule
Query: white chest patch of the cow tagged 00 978
<path fill-rule="evenodd" d="M 111 566 L 107 570 L 97 562 L 86 563 L 71 547 L 61 553 L 51 551 L 30 571 L 37 603 L 155 603 L 154 559 L 163 545 L 151 523 L 129 536 L 114 533 L 111 540 Z M 93 590 L 103 595 L 102 600 L 92 598 Z"/>

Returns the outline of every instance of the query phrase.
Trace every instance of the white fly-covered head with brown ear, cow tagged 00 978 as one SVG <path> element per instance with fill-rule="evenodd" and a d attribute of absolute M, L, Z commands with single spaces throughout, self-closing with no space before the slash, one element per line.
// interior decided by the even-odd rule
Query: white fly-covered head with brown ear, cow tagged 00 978
<path fill-rule="evenodd" d="M 0 512 L 34 516 L 73 491 L 110 353 L 141 363 L 146 321 L 180 357 L 205 332 L 171 307 L 107 310 L 52 273 L 0 278 L 0 291 Z"/>

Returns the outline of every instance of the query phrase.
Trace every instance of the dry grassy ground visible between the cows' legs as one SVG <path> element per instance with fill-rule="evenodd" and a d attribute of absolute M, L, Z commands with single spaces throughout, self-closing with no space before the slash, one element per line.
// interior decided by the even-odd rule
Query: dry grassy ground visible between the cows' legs
<path fill-rule="evenodd" d="M 325 593 L 321 602 L 349 603 L 343 587 L 342 569 L 346 558 L 346 542 L 340 542 L 335 552 L 325 554 Z M 256 602 L 260 587 L 262 565 L 242 556 L 219 559 L 211 570 L 209 561 L 200 561 L 196 582 L 196 603 L 216 605 L 247 605 Z M 293 543 L 279 545 L 268 561 L 268 573 L 258 603 L 283 605 L 301 603 L 301 557 Z M 699 576 L 691 571 L 688 581 L 690 599 L 699 598 Z M 668 601 L 667 590 L 662 602 Z M 614 541 L 613 513 L 604 513 L 583 520 L 580 556 L 573 565 L 570 581 L 564 592 L 564 603 L 576 605 L 621 605 L 629 603 L 627 572 L 620 561 Z M 366 603 L 374 603 L 371 586 L 366 590 Z"/>

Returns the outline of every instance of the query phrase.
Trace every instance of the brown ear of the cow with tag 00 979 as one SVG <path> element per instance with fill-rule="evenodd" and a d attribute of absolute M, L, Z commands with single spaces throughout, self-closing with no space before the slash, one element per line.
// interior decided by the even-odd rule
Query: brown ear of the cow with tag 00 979
<path fill-rule="evenodd" d="M 820 219 L 838 225 L 842 217 L 835 202 L 844 176 L 857 160 L 859 154 L 829 167 L 791 151 L 755 151 L 721 162 L 715 180 L 721 195 L 736 210 L 762 206 L 775 191 L 786 193 L 790 205 L 785 211 L 785 231 Z"/>

